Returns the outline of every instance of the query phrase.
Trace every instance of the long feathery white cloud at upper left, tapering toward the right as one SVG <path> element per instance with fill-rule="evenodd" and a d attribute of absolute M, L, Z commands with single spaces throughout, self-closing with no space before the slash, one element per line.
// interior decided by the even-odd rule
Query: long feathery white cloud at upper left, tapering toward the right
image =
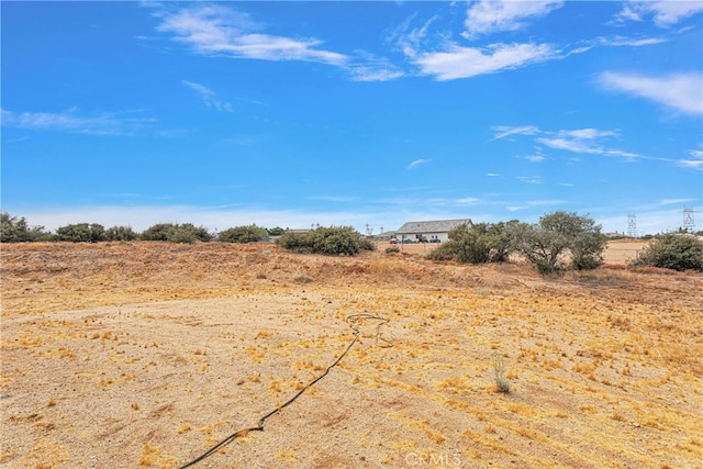
<path fill-rule="evenodd" d="M 263 60 L 306 60 L 343 66 L 348 57 L 317 48 L 322 41 L 258 33 L 261 26 L 248 14 L 223 5 L 196 5 L 176 12 L 160 10 L 158 31 L 205 55 Z"/>

